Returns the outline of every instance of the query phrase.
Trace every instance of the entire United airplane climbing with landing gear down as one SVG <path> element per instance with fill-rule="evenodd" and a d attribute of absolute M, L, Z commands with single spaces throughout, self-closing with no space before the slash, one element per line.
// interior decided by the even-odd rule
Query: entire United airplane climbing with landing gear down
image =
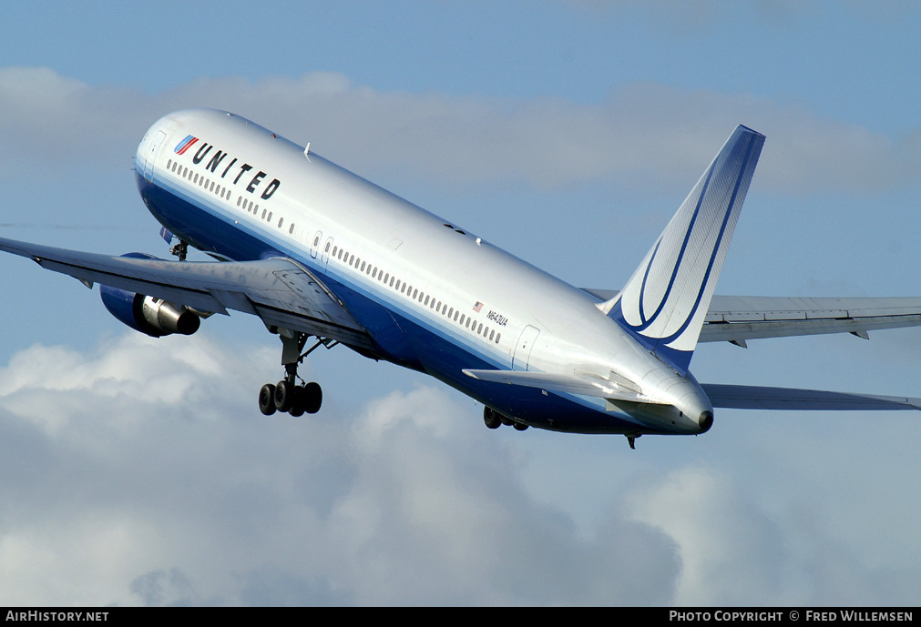
<path fill-rule="evenodd" d="M 700 434 L 715 407 L 921 409 L 921 399 L 698 383 L 699 342 L 921 325 L 921 298 L 714 296 L 764 145 L 729 136 L 620 291 L 568 285 L 232 113 L 171 113 L 146 132 L 135 172 L 178 260 L 110 257 L 0 239 L 88 287 L 150 336 L 192 334 L 228 310 L 281 338 L 265 415 L 320 409 L 297 366 L 343 344 L 426 372 L 503 424 L 575 433 Z M 215 261 L 186 261 L 188 246 Z"/>

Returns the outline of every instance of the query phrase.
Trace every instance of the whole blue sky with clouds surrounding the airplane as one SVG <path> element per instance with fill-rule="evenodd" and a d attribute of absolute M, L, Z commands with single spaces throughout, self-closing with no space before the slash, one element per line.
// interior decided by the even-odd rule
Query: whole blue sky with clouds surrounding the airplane
<path fill-rule="evenodd" d="M 166 255 L 134 149 L 216 107 L 617 289 L 743 123 L 767 143 L 718 293 L 921 294 L 912 3 L 264 5 L 6 6 L 0 233 Z M 336 349 L 307 369 L 320 415 L 264 420 L 258 321 L 148 340 L 26 260 L 0 281 L 0 603 L 917 603 L 915 414 L 722 411 L 631 451 L 487 431 Z M 918 346 L 705 346 L 692 368 L 921 395 Z"/>

